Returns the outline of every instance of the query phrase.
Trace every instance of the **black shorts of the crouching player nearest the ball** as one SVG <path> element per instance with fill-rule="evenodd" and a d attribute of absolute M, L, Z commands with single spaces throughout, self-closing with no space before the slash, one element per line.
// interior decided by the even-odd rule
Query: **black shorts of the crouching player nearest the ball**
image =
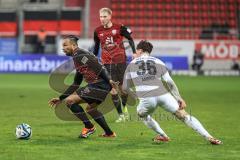
<path fill-rule="evenodd" d="M 100 104 L 105 100 L 111 89 L 112 87 L 109 83 L 100 81 L 81 87 L 76 92 L 79 97 L 86 101 L 88 104 Z"/>

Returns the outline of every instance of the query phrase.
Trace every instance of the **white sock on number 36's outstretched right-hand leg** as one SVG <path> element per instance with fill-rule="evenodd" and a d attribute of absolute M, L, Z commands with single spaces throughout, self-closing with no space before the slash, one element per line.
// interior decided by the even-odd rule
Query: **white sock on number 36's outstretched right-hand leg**
<path fill-rule="evenodd" d="M 184 123 L 206 139 L 212 137 L 195 117 L 187 115 L 184 119 Z"/>

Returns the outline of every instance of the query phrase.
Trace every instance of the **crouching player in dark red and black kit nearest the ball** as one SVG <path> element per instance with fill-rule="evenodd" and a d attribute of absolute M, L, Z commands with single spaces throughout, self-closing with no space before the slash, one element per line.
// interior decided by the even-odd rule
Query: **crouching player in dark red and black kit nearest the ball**
<path fill-rule="evenodd" d="M 105 67 L 98 62 L 96 56 L 92 53 L 78 48 L 78 38 L 68 36 L 63 40 L 63 51 L 67 56 L 73 58 L 76 74 L 74 82 L 59 97 L 52 98 L 49 105 L 56 106 L 62 101 L 67 107 L 79 118 L 85 125 L 80 138 L 87 138 L 96 130 L 94 125 L 88 119 L 86 113 L 81 107 L 81 103 L 87 103 L 88 114 L 103 128 L 105 131 L 101 136 L 115 137 L 116 134 L 109 128 L 103 114 L 98 111 L 97 106 L 101 104 L 112 87 L 116 87 L 117 83 L 110 79 Z M 87 82 L 85 87 L 80 87 L 82 80 Z"/>

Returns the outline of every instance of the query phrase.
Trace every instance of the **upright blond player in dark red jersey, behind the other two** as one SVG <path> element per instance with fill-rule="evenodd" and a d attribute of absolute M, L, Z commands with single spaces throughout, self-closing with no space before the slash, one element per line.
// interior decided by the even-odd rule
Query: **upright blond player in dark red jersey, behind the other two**
<path fill-rule="evenodd" d="M 112 11 L 109 8 L 102 8 L 99 10 L 101 26 L 94 31 L 94 54 L 98 55 L 101 46 L 101 61 L 107 68 L 112 80 L 123 82 L 124 72 L 127 66 L 126 52 L 123 45 L 123 39 L 128 39 L 132 48 L 133 55 L 135 55 L 135 45 L 131 37 L 131 30 L 124 25 L 112 23 Z M 111 90 L 113 103 L 118 111 L 119 118 L 116 122 L 123 122 L 128 118 L 128 111 L 126 108 L 127 95 L 121 91 L 121 100 L 118 97 L 116 89 Z M 123 106 L 123 111 L 121 106 Z"/>

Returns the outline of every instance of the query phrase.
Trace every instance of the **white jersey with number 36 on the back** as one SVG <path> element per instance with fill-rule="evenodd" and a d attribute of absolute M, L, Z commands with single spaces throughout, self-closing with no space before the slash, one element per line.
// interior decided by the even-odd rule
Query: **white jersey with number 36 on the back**
<path fill-rule="evenodd" d="M 170 77 L 161 60 L 143 54 L 128 65 L 124 75 L 123 90 L 129 92 L 132 88 L 139 98 L 166 94 L 168 90 L 162 81 L 165 75 Z"/>

